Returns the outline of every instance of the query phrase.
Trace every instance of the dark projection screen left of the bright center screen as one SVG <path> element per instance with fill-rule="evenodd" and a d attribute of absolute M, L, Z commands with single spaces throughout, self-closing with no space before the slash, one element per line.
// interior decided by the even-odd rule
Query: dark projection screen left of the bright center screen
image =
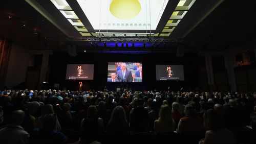
<path fill-rule="evenodd" d="M 94 64 L 67 64 L 66 80 L 93 80 Z"/>

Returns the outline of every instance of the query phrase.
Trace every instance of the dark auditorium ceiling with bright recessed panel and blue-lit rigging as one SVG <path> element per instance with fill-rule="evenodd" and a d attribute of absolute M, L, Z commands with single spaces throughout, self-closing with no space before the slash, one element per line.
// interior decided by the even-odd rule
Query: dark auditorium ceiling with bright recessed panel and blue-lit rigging
<path fill-rule="evenodd" d="M 225 50 L 255 38 L 252 0 L 25 0 L 0 5 L 0 36 L 28 49 Z M 114 49 L 114 48 L 113 48 Z"/>

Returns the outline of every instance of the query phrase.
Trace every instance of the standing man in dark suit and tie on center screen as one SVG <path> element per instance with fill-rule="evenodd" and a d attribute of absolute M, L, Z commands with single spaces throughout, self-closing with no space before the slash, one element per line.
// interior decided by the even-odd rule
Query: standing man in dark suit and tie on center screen
<path fill-rule="evenodd" d="M 117 71 L 117 79 L 119 82 L 132 82 L 133 81 L 133 76 L 132 76 L 132 71 L 129 69 L 126 69 L 126 64 L 122 63 L 121 65 L 121 70 Z"/>

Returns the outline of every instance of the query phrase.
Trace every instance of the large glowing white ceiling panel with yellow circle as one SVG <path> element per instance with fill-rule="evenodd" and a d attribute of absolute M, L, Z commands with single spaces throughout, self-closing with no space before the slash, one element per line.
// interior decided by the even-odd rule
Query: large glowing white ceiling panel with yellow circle
<path fill-rule="evenodd" d="M 94 30 L 156 30 L 168 0 L 77 0 Z"/>

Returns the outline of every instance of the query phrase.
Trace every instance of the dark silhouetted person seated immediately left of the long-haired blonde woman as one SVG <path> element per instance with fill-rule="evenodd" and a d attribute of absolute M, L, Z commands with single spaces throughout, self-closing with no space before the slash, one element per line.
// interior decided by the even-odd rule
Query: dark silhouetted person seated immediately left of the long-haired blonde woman
<path fill-rule="evenodd" d="M 148 112 L 143 107 L 144 101 L 138 99 L 138 107 L 133 108 L 130 113 L 130 129 L 132 133 L 146 132 L 148 128 Z"/>

